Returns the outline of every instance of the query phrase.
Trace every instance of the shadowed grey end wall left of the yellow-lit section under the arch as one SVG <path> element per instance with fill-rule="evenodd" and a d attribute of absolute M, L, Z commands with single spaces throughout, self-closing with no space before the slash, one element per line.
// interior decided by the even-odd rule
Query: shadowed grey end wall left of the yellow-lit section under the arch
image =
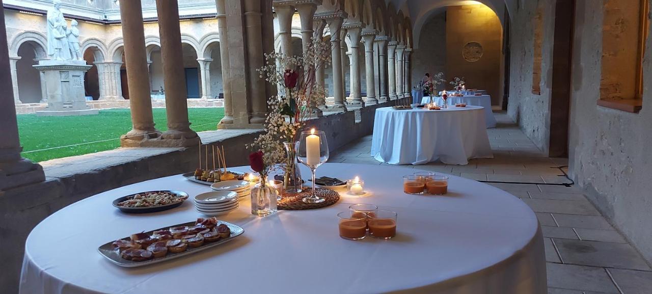
<path fill-rule="evenodd" d="M 419 85 L 423 75 L 432 77 L 446 71 L 446 11 L 434 14 L 421 29 L 419 49 L 412 55 L 412 86 Z M 441 85 L 439 88 L 445 87 Z M 442 88 L 443 89 L 443 88 Z"/>

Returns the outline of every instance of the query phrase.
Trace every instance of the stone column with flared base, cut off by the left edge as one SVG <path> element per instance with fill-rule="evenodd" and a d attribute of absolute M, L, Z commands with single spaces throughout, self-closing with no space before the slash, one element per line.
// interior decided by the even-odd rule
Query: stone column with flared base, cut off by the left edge
<path fill-rule="evenodd" d="M 7 48 L 5 11 L 0 1 L 0 195 L 17 186 L 45 181 L 43 168 L 23 158 L 18 138 L 16 100 Z M 18 59 L 16 59 L 18 60 Z M 7 196 L 7 195 L 5 195 Z"/>

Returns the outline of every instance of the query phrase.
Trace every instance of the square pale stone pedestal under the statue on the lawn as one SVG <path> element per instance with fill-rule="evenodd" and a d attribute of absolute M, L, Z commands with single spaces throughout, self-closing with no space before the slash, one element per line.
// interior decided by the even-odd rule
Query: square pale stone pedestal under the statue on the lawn
<path fill-rule="evenodd" d="M 91 115 L 98 114 L 86 104 L 83 76 L 92 65 L 83 60 L 42 60 L 33 65 L 44 72 L 48 107 L 37 115 Z"/>

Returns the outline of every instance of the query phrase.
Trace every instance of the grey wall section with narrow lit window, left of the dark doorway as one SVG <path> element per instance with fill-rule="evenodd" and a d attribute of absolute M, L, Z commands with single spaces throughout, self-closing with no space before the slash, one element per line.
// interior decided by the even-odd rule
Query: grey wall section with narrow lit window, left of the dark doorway
<path fill-rule="evenodd" d="M 552 44 L 554 37 L 554 1 L 541 0 L 542 47 L 541 93 L 532 93 L 535 16 L 537 1 L 524 1 L 512 14 L 510 89 L 507 113 L 539 149 L 548 153 L 550 138 L 550 89 Z"/>

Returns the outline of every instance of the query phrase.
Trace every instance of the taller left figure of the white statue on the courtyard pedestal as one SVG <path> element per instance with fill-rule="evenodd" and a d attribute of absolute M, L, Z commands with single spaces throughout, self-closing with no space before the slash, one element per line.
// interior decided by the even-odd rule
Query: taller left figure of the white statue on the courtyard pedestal
<path fill-rule="evenodd" d="M 61 13 L 61 0 L 54 0 L 48 10 L 48 56 L 55 60 L 70 60 L 68 49 L 68 23 Z"/>

